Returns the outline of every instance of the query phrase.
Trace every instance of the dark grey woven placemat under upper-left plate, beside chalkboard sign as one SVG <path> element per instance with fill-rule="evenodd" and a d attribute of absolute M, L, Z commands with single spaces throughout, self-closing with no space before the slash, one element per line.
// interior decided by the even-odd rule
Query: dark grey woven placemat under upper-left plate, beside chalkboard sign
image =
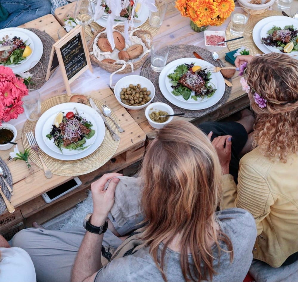
<path fill-rule="evenodd" d="M 32 80 L 30 81 L 30 85 L 28 88 L 30 89 L 39 89 L 42 85 L 46 83 L 46 69 L 48 68 L 50 54 L 52 50 L 52 46 L 55 43 L 55 40 L 49 36 L 46 32 L 41 31 L 35 28 L 27 28 L 28 30 L 34 32 L 41 40 L 42 45 L 44 46 L 44 52 L 39 60 L 39 62 L 29 70 L 32 76 Z M 54 71 L 51 72 L 51 75 Z"/>

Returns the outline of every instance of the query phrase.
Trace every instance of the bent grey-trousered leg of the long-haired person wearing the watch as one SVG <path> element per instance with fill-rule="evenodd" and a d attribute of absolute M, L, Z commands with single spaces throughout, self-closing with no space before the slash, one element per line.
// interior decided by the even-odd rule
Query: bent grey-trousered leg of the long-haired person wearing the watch
<path fill-rule="evenodd" d="M 38 282 L 68 282 L 85 232 L 83 227 L 72 231 L 28 228 L 13 236 L 12 245 L 29 253 Z M 103 245 L 116 249 L 121 243 L 110 230 L 104 234 Z"/>

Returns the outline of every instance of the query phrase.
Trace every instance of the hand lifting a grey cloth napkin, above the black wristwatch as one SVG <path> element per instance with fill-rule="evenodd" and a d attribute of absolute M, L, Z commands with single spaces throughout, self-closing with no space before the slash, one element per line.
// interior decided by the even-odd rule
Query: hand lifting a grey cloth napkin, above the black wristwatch
<path fill-rule="evenodd" d="M 94 222 L 94 219 L 97 217 L 106 218 L 112 206 L 114 205 L 115 189 L 119 182 L 119 179 L 112 179 L 106 190 L 104 190 L 104 187 L 108 180 L 117 176 L 122 176 L 122 174 L 117 172 L 106 173 L 102 177 L 100 177 L 100 179 L 91 184 L 93 199 L 93 215 L 91 217 L 92 222 Z M 92 224 L 96 225 L 95 222 Z"/>

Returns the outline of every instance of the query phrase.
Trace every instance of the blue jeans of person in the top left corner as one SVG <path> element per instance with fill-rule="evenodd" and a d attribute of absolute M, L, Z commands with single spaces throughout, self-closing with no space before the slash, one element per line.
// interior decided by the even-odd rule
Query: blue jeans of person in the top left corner
<path fill-rule="evenodd" d="M 51 13 L 50 0 L 0 0 L 9 15 L 5 21 L 0 22 L 0 29 L 17 27 L 28 21 Z"/>

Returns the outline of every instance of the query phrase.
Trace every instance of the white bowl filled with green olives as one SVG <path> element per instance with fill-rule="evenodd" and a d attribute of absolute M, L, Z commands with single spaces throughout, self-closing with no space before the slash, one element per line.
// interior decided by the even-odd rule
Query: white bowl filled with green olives
<path fill-rule="evenodd" d="M 139 110 L 152 102 L 155 96 L 155 87 L 146 77 L 128 75 L 116 83 L 114 94 L 123 107 Z"/>

